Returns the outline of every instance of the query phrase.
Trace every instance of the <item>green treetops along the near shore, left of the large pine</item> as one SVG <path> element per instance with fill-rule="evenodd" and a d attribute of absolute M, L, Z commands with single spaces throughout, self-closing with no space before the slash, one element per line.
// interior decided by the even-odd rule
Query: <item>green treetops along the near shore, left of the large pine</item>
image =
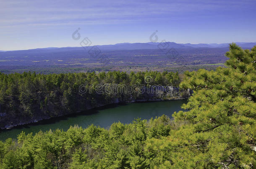
<path fill-rule="evenodd" d="M 114 123 L 109 130 L 91 125 L 34 136 L 22 132 L 18 142 L 0 141 L 0 168 L 167 169 L 171 166 L 167 152 L 178 149 L 175 146 L 179 143 L 171 143 L 166 136 L 176 127 L 162 116 L 150 121 L 136 119 L 131 124 Z"/>

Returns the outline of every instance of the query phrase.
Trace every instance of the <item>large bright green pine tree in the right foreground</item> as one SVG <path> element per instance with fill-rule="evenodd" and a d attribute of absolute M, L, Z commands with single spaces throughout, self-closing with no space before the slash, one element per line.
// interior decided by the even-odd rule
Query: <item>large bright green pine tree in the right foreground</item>
<path fill-rule="evenodd" d="M 186 72 L 181 88 L 194 90 L 183 108 L 174 113 L 183 129 L 173 131 L 186 147 L 207 154 L 204 166 L 256 167 L 256 47 L 242 50 L 230 44 L 228 68 Z M 254 151 L 253 151 L 254 149 Z M 194 159 L 196 157 L 193 157 Z"/>

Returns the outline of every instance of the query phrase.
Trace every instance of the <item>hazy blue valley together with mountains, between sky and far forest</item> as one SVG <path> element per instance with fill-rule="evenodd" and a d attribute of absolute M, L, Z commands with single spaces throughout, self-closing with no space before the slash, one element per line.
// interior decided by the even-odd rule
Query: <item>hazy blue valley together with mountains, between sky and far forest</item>
<path fill-rule="evenodd" d="M 237 43 L 251 49 L 256 43 Z M 37 48 L 0 51 L 0 70 L 34 70 L 48 68 L 101 68 L 115 66 L 128 68 L 167 68 L 177 65 L 223 64 L 228 43 L 118 43 L 89 47 Z"/>

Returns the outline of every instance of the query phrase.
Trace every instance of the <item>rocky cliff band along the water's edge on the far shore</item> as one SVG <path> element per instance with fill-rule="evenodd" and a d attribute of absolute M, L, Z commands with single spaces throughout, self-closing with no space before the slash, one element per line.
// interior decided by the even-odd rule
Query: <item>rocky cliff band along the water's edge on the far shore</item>
<path fill-rule="evenodd" d="M 114 91 L 115 92 L 115 91 Z M 77 95 L 74 98 L 73 104 L 67 105 L 60 96 L 58 99 L 47 102 L 47 108 L 41 108 L 40 105 L 34 105 L 32 114 L 26 114 L 19 109 L 18 113 L 1 112 L 0 105 L 0 128 L 8 129 L 14 126 L 23 124 L 36 123 L 37 121 L 50 119 L 52 117 L 63 116 L 72 113 L 86 111 L 92 108 L 97 108 L 112 103 L 136 102 L 136 101 L 157 101 L 157 100 L 178 100 L 186 99 L 191 96 L 192 92 L 182 91 L 174 86 L 147 86 L 135 88 L 132 93 L 116 92 L 110 93 L 95 93 L 94 97 L 86 97 Z M 86 94 L 85 94 L 86 95 Z"/>

